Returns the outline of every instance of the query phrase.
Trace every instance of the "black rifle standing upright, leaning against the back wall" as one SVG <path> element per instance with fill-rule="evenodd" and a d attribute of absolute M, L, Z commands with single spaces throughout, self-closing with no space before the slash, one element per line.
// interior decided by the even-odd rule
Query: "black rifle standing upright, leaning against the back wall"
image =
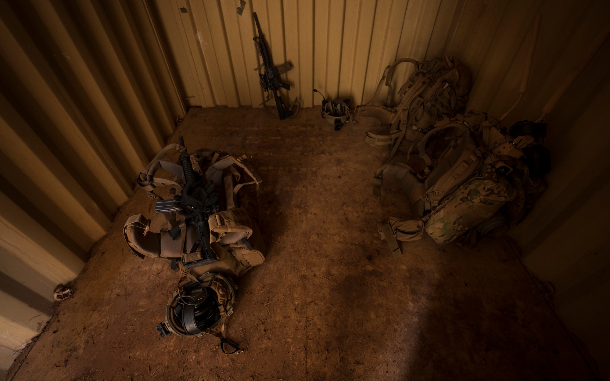
<path fill-rule="evenodd" d="M 284 99 L 278 95 L 278 90 L 280 87 L 290 90 L 290 85 L 285 84 L 279 78 L 280 74 L 291 69 L 290 63 L 286 62 L 284 65 L 271 66 L 271 60 L 269 59 L 269 53 L 267 52 L 267 45 L 265 45 L 265 40 L 263 39 L 263 32 L 260 30 L 259 18 L 256 16 L 256 12 L 254 12 L 253 15 L 254 21 L 256 21 L 256 29 L 259 31 L 258 37 L 254 37 L 253 40 L 256 42 L 256 47 L 258 48 L 260 55 L 263 57 L 263 65 L 265 66 L 265 73 L 259 74 L 260 85 L 265 91 L 273 91 L 275 104 L 278 107 L 279 118 L 288 118 L 292 115 L 292 112 L 284 105 Z"/>

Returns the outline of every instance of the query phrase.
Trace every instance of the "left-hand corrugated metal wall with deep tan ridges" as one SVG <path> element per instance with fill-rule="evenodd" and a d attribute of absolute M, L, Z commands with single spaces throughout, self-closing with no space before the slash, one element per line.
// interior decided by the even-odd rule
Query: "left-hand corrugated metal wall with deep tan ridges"
<path fill-rule="evenodd" d="M 0 2 L 0 369 L 184 116 L 147 6 Z"/>

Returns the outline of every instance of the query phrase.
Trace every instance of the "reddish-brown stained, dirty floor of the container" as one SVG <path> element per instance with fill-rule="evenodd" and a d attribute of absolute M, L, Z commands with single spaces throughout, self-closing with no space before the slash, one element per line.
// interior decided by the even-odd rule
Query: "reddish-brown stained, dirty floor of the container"
<path fill-rule="evenodd" d="M 237 280 L 226 330 L 246 351 L 226 356 L 211 336 L 159 338 L 179 275 L 129 254 L 127 217 L 162 224 L 138 190 L 12 380 L 590 379 L 506 241 L 470 249 L 424 237 L 399 260 L 389 254 L 376 223 L 409 209 L 392 182 L 371 195 L 387 152 L 364 134 L 378 127 L 367 118 L 336 132 L 317 108 L 285 121 L 190 110 L 171 142 L 252 155 L 263 179 L 267 260 Z"/>

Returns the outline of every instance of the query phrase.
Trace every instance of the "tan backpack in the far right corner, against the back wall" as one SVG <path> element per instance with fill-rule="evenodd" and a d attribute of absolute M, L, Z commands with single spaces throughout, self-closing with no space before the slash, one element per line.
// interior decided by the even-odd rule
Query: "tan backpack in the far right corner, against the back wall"
<path fill-rule="evenodd" d="M 403 62 L 412 63 L 415 72 L 398 90 L 398 103 L 390 105 L 393 96 L 393 73 Z M 384 105 L 371 105 L 382 84 L 387 88 Z M 392 148 L 390 157 L 397 152 L 397 149 L 410 154 L 417 146 L 417 142 L 434 124 L 443 118 L 453 118 L 458 113 L 464 113 L 471 85 L 470 70 L 453 57 L 424 62 L 407 58 L 398 59 L 387 66 L 373 99 L 365 105 L 356 107 L 353 118 L 372 116 L 389 129 L 389 134 L 367 132 L 365 141 L 371 146 Z"/>

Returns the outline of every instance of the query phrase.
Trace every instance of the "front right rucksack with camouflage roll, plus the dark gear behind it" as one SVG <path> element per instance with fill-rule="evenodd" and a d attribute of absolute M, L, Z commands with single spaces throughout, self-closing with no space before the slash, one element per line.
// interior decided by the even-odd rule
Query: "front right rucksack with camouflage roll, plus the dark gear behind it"
<path fill-rule="evenodd" d="M 424 231 L 438 244 L 450 243 L 487 222 L 485 235 L 496 228 L 506 232 L 509 220 L 526 213 L 526 201 L 531 204 L 544 191 L 544 175 L 550 170 L 544 155 L 548 149 L 542 146 L 545 134 L 544 123 L 518 122 L 507 130 L 483 113 L 470 112 L 439 121 L 418 143 L 418 154 L 426 163 L 423 172 L 403 163 L 381 166 L 373 195 L 381 196 L 384 177 L 399 180 L 413 218 L 390 217 L 378 224 L 392 254 L 401 255 L 398 241 L 417 240 Z M 449 143 L 442 154 L 431 158 L 426 146 L 433 139 L 449 139 Z"/>

